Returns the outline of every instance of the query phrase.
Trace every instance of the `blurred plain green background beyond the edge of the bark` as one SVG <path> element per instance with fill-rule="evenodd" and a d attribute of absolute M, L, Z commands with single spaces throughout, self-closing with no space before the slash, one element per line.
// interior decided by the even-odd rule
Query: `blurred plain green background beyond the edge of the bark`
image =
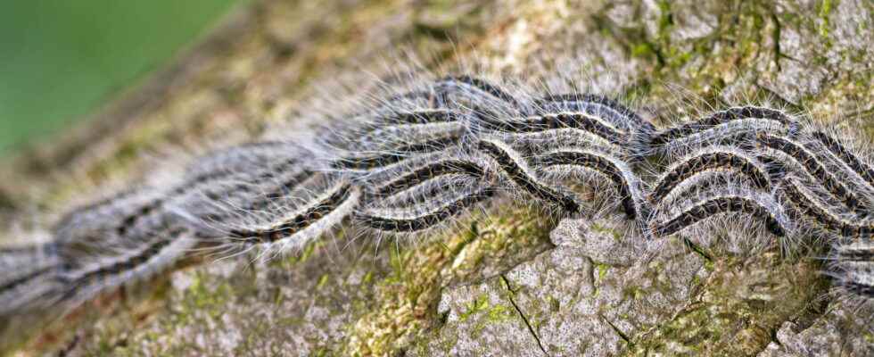
<path fill-rule="evenodd" d="M 244 0 L 3 0 L 0 155 L 62 131 Z"/>

